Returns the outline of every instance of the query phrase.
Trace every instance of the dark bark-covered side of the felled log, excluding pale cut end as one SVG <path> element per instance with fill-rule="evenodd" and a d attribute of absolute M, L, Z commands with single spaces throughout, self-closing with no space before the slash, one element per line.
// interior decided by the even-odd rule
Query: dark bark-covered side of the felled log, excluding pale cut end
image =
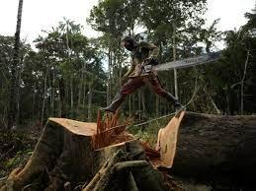
<path fill-rule="evenodd" d="M 178 133 L 172 172 L 215 178 L 256 176 L 256 116 L 187 112 Z"/>

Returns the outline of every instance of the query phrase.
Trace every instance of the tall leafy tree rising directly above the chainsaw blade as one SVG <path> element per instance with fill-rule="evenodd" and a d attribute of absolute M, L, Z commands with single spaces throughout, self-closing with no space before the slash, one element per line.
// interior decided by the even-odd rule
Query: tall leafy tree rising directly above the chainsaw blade
<path fill-rule="evenodd" d="M 160 61 L 176 60 L 181 57 L 179 52 L 185 44 L 183 37 L 192 32 L 196 35 L 200 33 L 199 29 L 205 22 L 202 19 L 205 11 L 206 0 L 143 1 L 141 23 L 148 30 L 149 37 L 160 47 Z M 174 70 L 175 96 L 178 96 L 177 78 L 177 71 Z"/>

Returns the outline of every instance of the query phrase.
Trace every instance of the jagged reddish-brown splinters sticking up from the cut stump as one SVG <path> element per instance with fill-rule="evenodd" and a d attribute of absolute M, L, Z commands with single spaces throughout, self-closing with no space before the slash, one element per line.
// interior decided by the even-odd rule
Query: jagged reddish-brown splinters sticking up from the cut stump
<path fill-rule="evenodd" d="M 120 112 L 115 114 L 107 112 L 102 116 L 101 110 L 98 110 L 97 132 L 93 137 L 95 150 L 132 139 L 131 136 L 124 133 L 128 126 L 128 121 L 125 121 L 124 124 L 119 124 L 119 117 Z"/>

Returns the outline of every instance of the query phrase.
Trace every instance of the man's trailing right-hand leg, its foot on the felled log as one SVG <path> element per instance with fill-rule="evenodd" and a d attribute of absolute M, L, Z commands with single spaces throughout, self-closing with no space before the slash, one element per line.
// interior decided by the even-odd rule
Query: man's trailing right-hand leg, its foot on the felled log
<path fill-rule="evenodd" d="M 182 107 L 182 104 L 178 101 L 178 99 L 175 96 L 173 96 L 171 93 L 163 89 L 157 76 L 155 75 L 150 76 L 148 79 L 148 82 L 151 85 L 153 91 L 157 95 L 166 98 L 167 101 L 171 102 L 176 109 Z"/>

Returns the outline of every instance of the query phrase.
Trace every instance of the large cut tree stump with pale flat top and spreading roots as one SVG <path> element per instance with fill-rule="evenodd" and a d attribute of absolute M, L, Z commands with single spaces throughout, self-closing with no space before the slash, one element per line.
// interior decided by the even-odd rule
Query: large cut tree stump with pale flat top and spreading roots
<path fill-rule="evenodd" d="M 163 174 L 146 162 L 141 143 L 131 138 L 95 149 L 104 146 L 97 141 L 97 123 L 49 118 L 32 157 L 0 190 L 167 190 Z"/>

